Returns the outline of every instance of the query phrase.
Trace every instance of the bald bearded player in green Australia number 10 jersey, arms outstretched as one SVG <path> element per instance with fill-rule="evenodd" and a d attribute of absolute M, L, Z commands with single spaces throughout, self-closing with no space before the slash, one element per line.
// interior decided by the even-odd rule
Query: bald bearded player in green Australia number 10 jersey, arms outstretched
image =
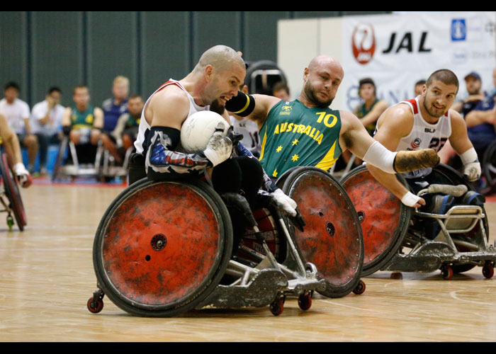
<path fill-rule="evenodd" d="M 439 163 L 432 149 L 391 152 L 368 134 L 355 115 L 330 109 L 343 76 L 336 59 L 320 55 L 305 68 L 303 89 L 295 101 L 238 93 L 227 102 L 227 110 L 257 122 L 262 141 L 260 162 L 271 178 L 295 166 L 328 171 L 346 149 L 389 173 Z"/>

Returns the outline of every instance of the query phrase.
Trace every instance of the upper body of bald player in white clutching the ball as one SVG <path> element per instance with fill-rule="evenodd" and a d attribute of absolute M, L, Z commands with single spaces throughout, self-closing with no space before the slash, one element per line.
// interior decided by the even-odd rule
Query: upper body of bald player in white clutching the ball
<path fill-rule="evenodd" d="M 184 120 L 193 113 L 208 110 L 216 100 L 223 104 L 235 96 L 245 74 L 239 53 L 218 45 L 205 51 L 184 79 L 169 79 L 152 93 L 142 110 L 129 183 L 147 176 L 147 171 L 151 175 L 191 173 L 225 161 L 232 149 L 229 139 L 216 137 L 215 144 L 209 144 L 203 154 L 183 154 L 175 149 Z"/>

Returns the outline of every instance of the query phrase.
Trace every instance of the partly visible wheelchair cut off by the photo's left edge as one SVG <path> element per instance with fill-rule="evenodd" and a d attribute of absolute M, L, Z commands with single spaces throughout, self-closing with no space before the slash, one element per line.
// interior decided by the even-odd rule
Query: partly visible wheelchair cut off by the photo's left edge
<path fill-rule="evenodd" d="M 7 226 L 11 231 L 14 224 L 14 218 L 19 230 L 24 231 L 27 225 L 26 212 L 24 212 L 23 200 L 19 190 L 19 183 L 15 174 L 7 161 L 7 154 L 0 153 L 0 175 L 3 189 L 0 193 L 1 205 L 4 205 L 3 212 L 7 212 Z M 13 214 L 13 217 L 12 217 Z"/>

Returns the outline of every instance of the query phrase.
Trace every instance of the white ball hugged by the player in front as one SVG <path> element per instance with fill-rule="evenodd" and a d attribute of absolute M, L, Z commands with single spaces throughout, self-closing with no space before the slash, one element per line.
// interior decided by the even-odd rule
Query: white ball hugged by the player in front
<path fill-rule="evenodd" d="M 181 127 L 181 145 L 185 152 L 203 152 L 219 123 L 224 125 L 223 135 L 227 134 L 229 123 L 222 115 L 211 110 L 193 113 Z"/>

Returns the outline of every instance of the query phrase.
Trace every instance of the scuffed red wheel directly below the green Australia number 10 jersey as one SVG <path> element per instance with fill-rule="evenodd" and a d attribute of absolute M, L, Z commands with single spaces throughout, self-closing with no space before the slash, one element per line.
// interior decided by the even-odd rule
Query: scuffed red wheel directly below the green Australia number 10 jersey
<path fill-rule="evenodd" d="M 289 227 L 303 262 L 317 267 L 325 280 L 327 297 L 348 295 L 360 280 L 363 236 L 359 219 L 342 186 L 329 173 L 315 167 L 293 170 L 282 190 L 298 204 L 304 232 Z"/>

